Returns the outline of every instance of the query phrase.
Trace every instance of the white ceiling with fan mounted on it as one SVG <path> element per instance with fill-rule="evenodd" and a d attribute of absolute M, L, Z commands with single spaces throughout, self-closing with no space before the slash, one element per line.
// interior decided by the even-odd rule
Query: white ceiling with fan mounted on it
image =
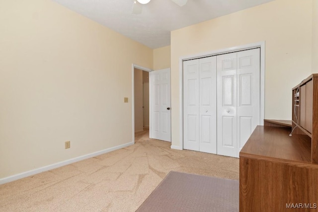
<path fill-rule="evenodd" d="M 170 45 L 170 32 L 272 0 L 151 0 L 132 14 L 134 0 L 54 0 L 152 49 Z"/>

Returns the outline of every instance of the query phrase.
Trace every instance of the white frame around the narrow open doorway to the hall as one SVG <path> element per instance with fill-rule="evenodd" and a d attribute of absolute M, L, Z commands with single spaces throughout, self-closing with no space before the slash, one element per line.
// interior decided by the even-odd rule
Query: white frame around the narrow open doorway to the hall
<path fill-rule="evenodd" d="M 152 69 L 148 69 L 142 66 L 138 66 L 136 64 L 132 64 L 132 119 L 133 119 L 133 143 L 135 144 L 135 68 L 136 69 L 140 69 L 142 71 L 148 71 L 149 73 L 151 71 L 154 71 Z M 151 88 L 151 76 L 149 74 L 149 89 Z M 150 103 L 151 103 L 151 93 L 149 92 L 149 138 L 151 138 L 151 107 L 150 107 Z"/>

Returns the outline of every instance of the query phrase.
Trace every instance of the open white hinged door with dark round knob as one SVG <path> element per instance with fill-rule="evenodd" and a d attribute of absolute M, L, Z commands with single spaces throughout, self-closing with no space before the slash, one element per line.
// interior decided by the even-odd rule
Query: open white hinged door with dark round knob
<path fill-rule="evenodd" d="M 151 137 L 171 142 L 170 69 L 151 74 Z"/>

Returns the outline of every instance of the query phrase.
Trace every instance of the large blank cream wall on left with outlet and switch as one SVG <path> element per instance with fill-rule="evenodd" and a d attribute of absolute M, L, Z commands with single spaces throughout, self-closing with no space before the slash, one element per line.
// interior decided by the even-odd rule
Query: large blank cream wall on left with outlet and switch
<path fill-rule="evenodd" d="M 0 1 L 0 29 L 0 179 L 132 142 L 152 49 L 51 0 Z"/>

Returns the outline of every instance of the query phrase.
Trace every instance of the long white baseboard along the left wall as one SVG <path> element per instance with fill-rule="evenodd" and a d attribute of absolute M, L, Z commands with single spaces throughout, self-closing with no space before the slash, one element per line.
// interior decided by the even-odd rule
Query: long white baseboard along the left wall
<path fill-rule="evenodd" d="M 85 154 L 85 155 L 82 155 L 82 156 L 79 156 L 79 157 L 75 157 L 75 158 L 72 158 L 72 159 L 69 159 L 69 160 L 65 160 L 65 161 L 61 161 L 61 162 L 58 162 L 58 163 L 54 163 L 54 164 L 51 164 L 51 165 L 48 165 L 48 166 L 43 166 L 43 167 L 40 167 L 40 168 L 37 168 L 37 169 L 33 169 L 33 170 L 30 170 L 30 171 L 22 172 L 22 173 L 15 174 L 15 175 L 12 175 L 12 176 L 9 176 L 9 177 L 1 178 L 0 179 L 0 185 L 4 184 L 4 183 L 12 182 L 14 180 L 18 180 L 18 179 L 21 179 L 21 178 L 24 178 L 24 177 L 35 175 L 35 174 L 38 174 L 38 173 L 41 173 L 41 172 L 44 172 L 44 171 L 55 169 L 55 168 L 58 168 L 58 167 L 61 167 L 61 166 L 69 165 L 71 163 L 75 163 L 75 162 L 78 162 L 80 160 L 84 160 L 84 159 L 87 159 L 87 158 L 90 158 L 90 157 L 94 157 L 94 156 L 97 156 L 97 155 L 100 155 L 100 154 L 104 154 L 104 153 L 107 153 L 107 152 L 110 152 L 110 151 L 114 151 L 114 150 L 117 150 L 117 149 L 120 149 L 120 148 L 124 148 L 126 146 L 130 146 L 130 145 L 133 145 L 133 144 L 134 144 L 134 142 L 124 143 L 124 144 L 121 144 L 121 145 L 118 145 L 118 146 L 114 146 L 114 147 L 107 148 L 107 149 L 104 149 L 104 150 L 100 150 L 100 151 L 96 151 L 96 152 L 93 152 L 93 153 Z"/>

